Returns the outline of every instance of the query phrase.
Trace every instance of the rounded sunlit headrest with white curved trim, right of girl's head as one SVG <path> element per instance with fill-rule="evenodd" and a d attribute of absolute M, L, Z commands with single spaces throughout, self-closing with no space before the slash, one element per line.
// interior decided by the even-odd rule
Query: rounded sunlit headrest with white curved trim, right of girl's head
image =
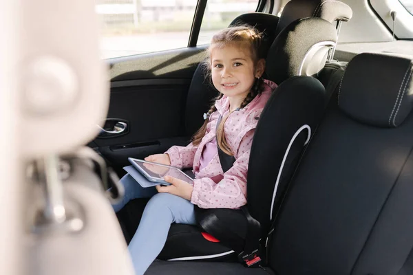
<path fill-rule="evenodd" d="M 277 84 L 291 76 L 313 76 L 325 65 L 337 31 L 324 19 L 308 17 L 288 25 L 277 36 L 266 58 L 266 74 Z"/>

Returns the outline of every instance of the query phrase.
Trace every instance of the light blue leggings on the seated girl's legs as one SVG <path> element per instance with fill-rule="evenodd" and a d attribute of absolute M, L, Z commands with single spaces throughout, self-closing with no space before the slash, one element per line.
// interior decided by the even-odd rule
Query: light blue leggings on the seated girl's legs
<path fill-rule="evenodd" d="M 171 223 L 196 223 L 193 204 L 169 193 L 157 193 L 156 188 L 142 188 L 131 175 L 120 182 L 125 186 L 125 197 L 114 205 L 118 212 L 131 199 L 151 197 L 142 214 L 138 230 L 129 243 L 135 273 L 144 274 L 167 241 Z"/>

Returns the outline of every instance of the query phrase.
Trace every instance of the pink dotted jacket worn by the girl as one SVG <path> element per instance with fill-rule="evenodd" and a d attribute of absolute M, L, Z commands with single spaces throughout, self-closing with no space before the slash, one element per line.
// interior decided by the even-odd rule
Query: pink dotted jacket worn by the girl
<path fill-rule="evenodd" d="M 229 115 L 224 125 L 224 133 L 235 162 L 226 173 L 222 171 L 220 157 L 215 155 L 211 162 L 200 170 L 200 158 L 205 144 L 215 138 L 215 127 L 220 115 L 229 112 L 226 96 L 215 102 L 217 111 L 209 117 L 207 132 L 198 146 L 192 142 L 188 146 L 172 146 L 167 153 L 171 165 L 178 168 L 193 168 L 195 179 L 191 203 L 200 208 L 240 208 L 246 204 L 246 172 L 255 127 L 262 109 L 277 85 L 264 80 L 264 91 L 246 107 Z"/>

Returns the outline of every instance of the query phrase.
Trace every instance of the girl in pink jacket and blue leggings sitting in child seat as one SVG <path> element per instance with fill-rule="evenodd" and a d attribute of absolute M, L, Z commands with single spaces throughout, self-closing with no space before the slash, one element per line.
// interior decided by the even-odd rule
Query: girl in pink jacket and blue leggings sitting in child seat
<path fill-rule="evenodd" d="M 261 42 L 261 34 L 246 26 L 215 34 L 206 65 L 220 96 L 204 114 L 204 125 L 188 146 L 173 146 L 164 154 L 145 158 L 178 168 L 192 167 L 193 185 L 165 177 L 171 186 L 141 188 L 130 175 L 121 179 L 125 197 L 114 206 L 116 211 L 130 199 L 153 196 L 129 243 L 136 274 L 143 274 L 156 259 L 171 223 L 195 225 L 195 204 L 200 208 L 240 208 L 246 204 L 246 173 L 254 129 L 271 91 L 277 87 L 271 81 L 261 80 L 265 69 Z M 235 157 L 226 173 L 222 171 L 217 146 Z"/>

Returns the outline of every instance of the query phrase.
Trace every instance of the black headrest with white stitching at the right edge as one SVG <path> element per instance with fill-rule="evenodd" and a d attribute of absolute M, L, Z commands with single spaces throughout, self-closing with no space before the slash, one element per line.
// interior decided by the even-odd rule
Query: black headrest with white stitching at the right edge
<path fill-rule="evenodd" d="M 372 126 L 399 126 L 413 108 L 413 62 L 388 54 L 359 54 L 348 64 L 339 87 L 339 108 Z"/>

